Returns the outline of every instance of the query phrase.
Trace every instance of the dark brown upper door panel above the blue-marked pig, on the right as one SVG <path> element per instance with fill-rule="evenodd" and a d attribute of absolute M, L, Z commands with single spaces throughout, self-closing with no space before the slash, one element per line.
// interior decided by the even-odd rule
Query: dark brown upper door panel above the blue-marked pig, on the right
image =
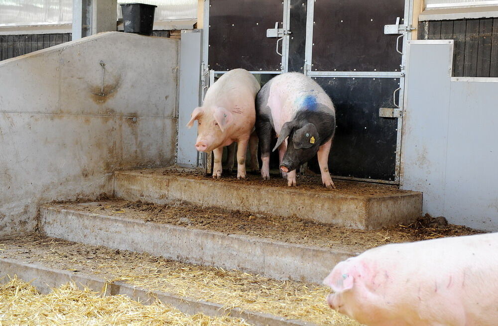
<path fill-rule="evenodd" d="M 397 35 L 384 35 L 384 25 L 403 18 L 404 5 L 404 0 L 315 0 L 312 71 L 399 71 Z"/>

